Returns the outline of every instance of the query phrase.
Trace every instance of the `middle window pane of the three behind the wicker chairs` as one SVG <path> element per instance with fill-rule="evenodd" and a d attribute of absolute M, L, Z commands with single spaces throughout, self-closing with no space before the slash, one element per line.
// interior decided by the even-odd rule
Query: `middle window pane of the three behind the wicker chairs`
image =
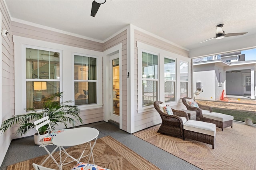
<path fill-rule="evenodd" d="M 164 102 L 175 101 L 175 60 L 164 58 Z"/>

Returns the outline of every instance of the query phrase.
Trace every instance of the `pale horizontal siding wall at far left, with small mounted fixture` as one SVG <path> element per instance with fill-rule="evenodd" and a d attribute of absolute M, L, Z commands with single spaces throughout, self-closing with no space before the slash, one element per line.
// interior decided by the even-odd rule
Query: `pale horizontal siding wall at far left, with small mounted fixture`
<path fill-rule="evenodd" d="M 2 55 L 2 65 L 0 67 L 2 72 L 2 83 L 0 81 L 2 89 L 0 92 L 2 92 L 2 94 L 0 95 L 2 99 L 0 101 L 2 101 L 2 103 L 0 106 L 3 106 L 0 107 L 0 123 L 2 123 L 2 121 L 14 115 L 14 45 L 12 43 L 11 19 L 4 5 L 4 1 L 2 0 L 0 1 L 0 10 L 2 15 L 1 30 L 8 30 L 7 36 L 0 35 L 2 39 L 2 51 L 0 51 Z M 0 133 L 0 164 L 2 164 L 12 140 L 10 131 L 11 130 Z"/>

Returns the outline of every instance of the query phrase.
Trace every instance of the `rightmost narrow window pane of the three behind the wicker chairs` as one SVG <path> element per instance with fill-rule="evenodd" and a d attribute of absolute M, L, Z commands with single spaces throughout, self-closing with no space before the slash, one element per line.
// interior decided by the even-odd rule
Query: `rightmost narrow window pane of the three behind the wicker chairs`
<path fill-rule="evenodd" d="M 188 63 L 180 61 L 180 99 L 188 97 Z"/>

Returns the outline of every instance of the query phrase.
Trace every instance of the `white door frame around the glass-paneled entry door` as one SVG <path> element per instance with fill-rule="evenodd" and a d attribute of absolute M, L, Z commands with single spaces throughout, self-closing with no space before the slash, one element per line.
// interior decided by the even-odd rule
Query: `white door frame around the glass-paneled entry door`
<path fill-rule="evenodd" d="M 111 73 L 110 73 L 110 67 L 112 68 L 112 64 L 110 63 L 110 56 L 119 53 L 119 109 L 120 109 L 120 115 L 119 115 L 119 128 L 122 129 L 122 43 L 119 43 L 118 45 L 115 45 L 105 51 L 103 51 L 103 111 L 104 111 L 104 121 L 108 122 L 110 119 L 111 110 L 113 107 L 113 103 L 110 100 L 112 96 L 112 82 L 111 82 Z M 111 87 L 110 87 L 111 85 Z"/>

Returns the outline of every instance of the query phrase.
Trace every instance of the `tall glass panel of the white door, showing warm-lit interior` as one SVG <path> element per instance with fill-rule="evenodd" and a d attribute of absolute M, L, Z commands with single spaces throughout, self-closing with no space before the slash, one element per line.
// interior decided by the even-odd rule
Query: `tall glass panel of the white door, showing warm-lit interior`
<path fill-rule="evenodd" d="M 112 77 L 113 77 L 113 114 L 120 114 L 119 103 L 119 58 L 112 60 Z"/>

